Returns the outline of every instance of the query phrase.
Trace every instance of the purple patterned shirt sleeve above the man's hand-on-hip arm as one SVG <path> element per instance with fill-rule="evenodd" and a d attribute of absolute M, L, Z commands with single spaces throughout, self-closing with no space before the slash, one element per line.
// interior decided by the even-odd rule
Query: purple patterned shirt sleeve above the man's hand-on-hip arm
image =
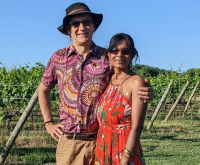
<path fill-rule="evenodd" d="M 49 89 L 54 88 L 55 85 L 57 84 L 57 76 L 55 74 L 55 65 L 54 65 L 53 55 L 49 59 L 47 66 L 44 70 L 44 74 L 41 78 L 41 81 L 43 82 L 43 84 Z"/>

